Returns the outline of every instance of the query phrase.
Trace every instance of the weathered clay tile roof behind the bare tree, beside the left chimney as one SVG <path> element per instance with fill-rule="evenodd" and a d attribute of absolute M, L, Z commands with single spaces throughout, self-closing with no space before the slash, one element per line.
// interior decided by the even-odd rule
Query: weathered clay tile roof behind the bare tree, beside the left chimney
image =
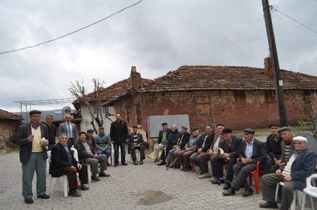
<path fill-rule="evenodd" d="M 142 84 L 149 84 L 151 82 L 151 80 L 149 79 L 144 79 L 141 78 L 141 83 Z M 102 101 L 103 102 L 107 102 L 110 101 L 112 99 L 118 98 L 121 95 L 126 94 L 129 90 L 131 89 L 131 85 L 130 85 L 130 78 L 125 79 L 125 80 L 121 80 L 117 83 L 111 84 L 108 87 L 103 88 L 102 91 Z M 88 93 L 87 98 L 89 101 L 94 101 L 95 100 L 95 95 L 94 92 Z M 74 107 L 76 109 L 80 108 L 80 103 L 79 100 L 76 99 L 72 102 L 72 104 L 74 105 Z"/>

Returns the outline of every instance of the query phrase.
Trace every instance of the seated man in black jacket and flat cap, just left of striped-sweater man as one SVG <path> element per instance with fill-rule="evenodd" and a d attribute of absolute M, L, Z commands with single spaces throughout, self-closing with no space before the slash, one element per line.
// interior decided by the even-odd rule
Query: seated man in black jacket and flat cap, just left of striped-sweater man
<path fill-rule="evenodd" d="M 279 136 L 278 131 L 280 129 L 278 124 L 272 123 L 269 126 L 271 134 L 266 137 L 265 148 L 267 153 L 267 160 L 265 161 L 266 173 L 274 173 L 278 165 L 276 161 L 281 157 L 281 143 L 283 139 Z"/>

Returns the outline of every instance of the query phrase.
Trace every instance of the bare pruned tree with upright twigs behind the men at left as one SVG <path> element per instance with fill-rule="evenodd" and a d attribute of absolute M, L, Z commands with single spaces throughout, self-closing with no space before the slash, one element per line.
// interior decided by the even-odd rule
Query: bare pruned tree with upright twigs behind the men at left
<path fill-rule="evenodd" d="M 93 80 L 94 83 L 94 101 L 95 103 L 95 112 L 96 115 L 94 114 L 94 111 L 90 107 L 89 104 L 89 99 L 87 95 L 85 94 L 85 90 L 82 89 L 82 87 L 79 84 L 79 81 L 75 81 L 75 83 L 70 82 L 70 88 L 68 90 L 70 93 L 77 98 L 79 103 L 84 104 L 88 107 L 88 112 L 91 116 L 91 125 L 94 128 L 94 131 L 96 134 L 98 134 L 98 129 L 95 126 L 95 123 L 97 123 L 98 127 L 102 127 L 104 125 L 104 119 L 102 115 L 102 100 L 101 100 L 101 90 L 104 88 L 105 81 L 100 82 L 99 79 L 94 78 Z"/>

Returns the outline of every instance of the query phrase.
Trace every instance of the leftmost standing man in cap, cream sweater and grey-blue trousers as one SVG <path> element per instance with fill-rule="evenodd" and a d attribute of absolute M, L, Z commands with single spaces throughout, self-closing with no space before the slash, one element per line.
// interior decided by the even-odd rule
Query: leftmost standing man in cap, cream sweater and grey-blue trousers
<path fill-rule="evenodd" d="M 22 196 L 27 204 L 33 203 L 32 180 L 36 170 L 36 192 L 38 198 L 49 199 L 46 194 L 46 159 L 44 146 L 49 145 L 48 127 L 40 123 L 41 112 L 30 112 L 30 123 L 19 126 L 16 144 L 20 145 L 22 163 Z"/>

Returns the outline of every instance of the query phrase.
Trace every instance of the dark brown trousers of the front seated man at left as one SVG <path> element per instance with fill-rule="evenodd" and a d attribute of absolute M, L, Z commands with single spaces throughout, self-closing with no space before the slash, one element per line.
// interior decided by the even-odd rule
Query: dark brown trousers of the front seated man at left
<path fill-rule="evenodd" d="M 77 189 L 77 172 L 79 173 L 79 179 L 81 184 L 88 183 L 87 165 L 82 164 L 82 168 L 78 170 L 77 166 L 63 167 L 64 174 L 67 175 L 69 191 Z"/>

